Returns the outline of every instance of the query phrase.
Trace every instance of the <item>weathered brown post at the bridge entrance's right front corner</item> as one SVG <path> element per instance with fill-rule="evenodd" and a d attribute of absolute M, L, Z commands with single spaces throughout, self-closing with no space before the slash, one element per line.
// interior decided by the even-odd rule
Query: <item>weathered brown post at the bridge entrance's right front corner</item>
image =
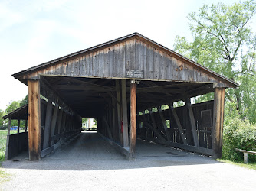
<path fill-rule="evenodd" d="M 215 158 L 222 157 L 224 102 L 225 88 L 215 88 L 212 125 L 212 150 Z"/>

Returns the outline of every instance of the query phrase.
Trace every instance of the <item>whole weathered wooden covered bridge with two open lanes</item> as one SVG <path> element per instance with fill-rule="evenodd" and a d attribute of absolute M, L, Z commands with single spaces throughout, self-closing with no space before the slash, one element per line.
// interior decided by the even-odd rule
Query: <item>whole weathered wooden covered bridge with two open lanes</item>
<path fill-rule="evenodd" d="M 28 86 L 30 160 L 80 134 L 82 118 L 129 159 L 136 138 L 221 157 L 225 89 L 238 86 L 138 33 L 12 76 Z M 208 92 L 214 101 L 191 103 Z"/>

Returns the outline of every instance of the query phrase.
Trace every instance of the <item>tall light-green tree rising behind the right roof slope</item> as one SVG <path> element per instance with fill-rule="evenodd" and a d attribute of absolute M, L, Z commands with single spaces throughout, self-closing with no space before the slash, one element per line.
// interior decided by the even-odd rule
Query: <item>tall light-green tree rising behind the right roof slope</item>
<path fill-rule="evenodd" d="M 193 41 L 178 36 L 174 44 L 185 57 L 241 84 L 237 89 L 227 89 L 226 97 L 235 103 L 241 118 L 247 116 L 251 122 L 256 122 L 256 36 L 250 28 L 255 13 L 253 0 L 204 5 L 198 13 L 189 13 Z"/>

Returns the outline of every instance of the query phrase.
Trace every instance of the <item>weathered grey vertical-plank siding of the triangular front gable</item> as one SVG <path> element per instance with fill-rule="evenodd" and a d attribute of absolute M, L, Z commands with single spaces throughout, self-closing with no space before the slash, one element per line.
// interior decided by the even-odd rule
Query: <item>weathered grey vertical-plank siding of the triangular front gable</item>
<path fill-rule="evenodd" d="M 22 77 L 38 79 L 39 75 L 56 75 L 127 79 L 126 70 L 133 69 L 143 70 L 143 79 L 214 83 L 215 86 L 229 87 L 198 66 L 172 57 L 168 51 L 135 37 L 54 63 Z"/>

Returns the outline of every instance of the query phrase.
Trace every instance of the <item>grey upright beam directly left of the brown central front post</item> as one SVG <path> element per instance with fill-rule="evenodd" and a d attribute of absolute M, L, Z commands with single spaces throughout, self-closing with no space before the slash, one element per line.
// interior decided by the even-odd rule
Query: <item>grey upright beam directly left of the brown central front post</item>
<path fill-rule="evenodd" d="M 126 80 L 122 79 L 122 115 L 123 115 L 123 147 L 129 147 Z"/>

